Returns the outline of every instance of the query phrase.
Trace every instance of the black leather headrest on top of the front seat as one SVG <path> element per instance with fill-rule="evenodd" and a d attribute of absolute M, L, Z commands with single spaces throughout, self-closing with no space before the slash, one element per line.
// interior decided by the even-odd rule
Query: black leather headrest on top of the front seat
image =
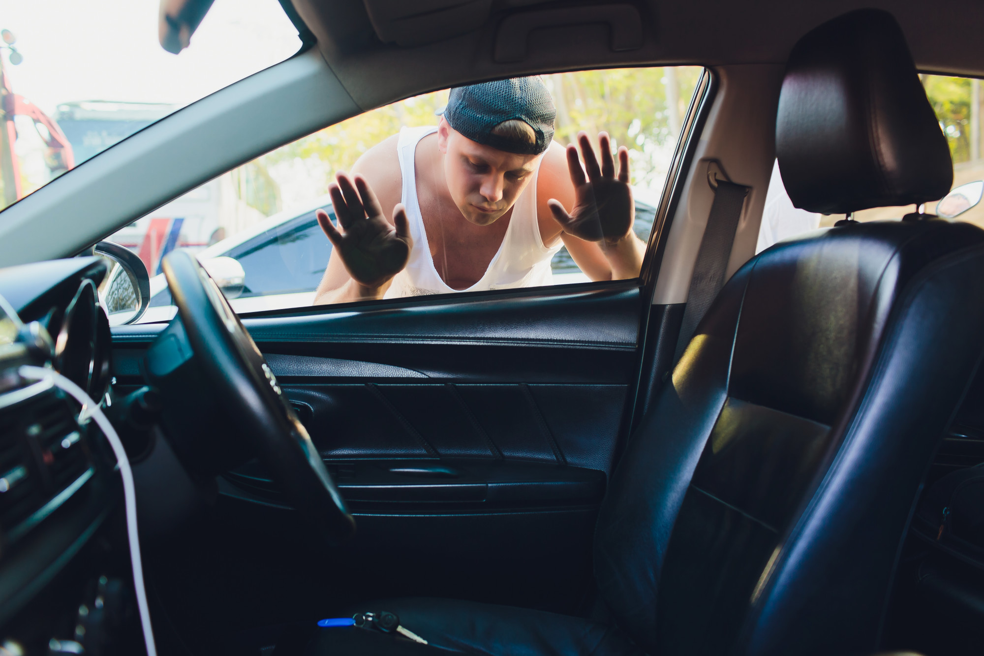
<path fill-rule="evenodd" d="M 848 214 L 950 192 L 950 148 L 891 14 L 845 14 L 793 47 L 775 153 L 789 198 L 808 212 Z"/>

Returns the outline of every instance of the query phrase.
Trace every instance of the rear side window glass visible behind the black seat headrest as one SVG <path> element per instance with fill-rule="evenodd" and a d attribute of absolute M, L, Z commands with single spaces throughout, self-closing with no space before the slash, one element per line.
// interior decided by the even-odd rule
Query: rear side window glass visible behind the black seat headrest
<path fill-rule="evenodd" d="M 940 129 L 950 145 L 953 159 L 953 190 L 946 201 L 927 203 L 922 211 L 953 221 L 965 221 L 984 228 L 984 204 L 980 203 L 984 183 L 981 159 L 981 82 L 973 78 L 920 75 Z M 900 220 L 916 208 L 882 207 L 854 213 L 856 221 Z M 830 228 L 843 215 L 821 215 L 793 206 L 782 185 L 778 164 L 773 165 L 769 191 L 763 211 L 756 252 L 788 237 L 818 228 Z"/>

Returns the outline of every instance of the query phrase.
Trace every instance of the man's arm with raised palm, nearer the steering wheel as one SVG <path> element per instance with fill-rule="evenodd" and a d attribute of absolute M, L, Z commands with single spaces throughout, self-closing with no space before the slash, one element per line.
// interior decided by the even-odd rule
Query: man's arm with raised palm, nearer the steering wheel
<path fill-rule="evenodd" d="M 329 186 L 341 230 L 332 225 L 327 213 L 318 211 L 318 223 L 334 248 L 315 292 L 316 305 L 382 298 L 390 288 L 393 276 L 406 264 L 403 259 L 400 267 L 389 275 L 395 264 L 389 260 L 379 261 L 385 254 L 390 259 L 396 256 L 395 261 L 399 263 L 400 243 L 395 243 L 394 239 L 410 243 L 407 230 L 400 234 L 399 217 L 405 222 L 405 213 L 399 205 L 402 175 L 397 160 L 397 139 L 397 136 L 391 137 L 360 157 L 352 166 L 354 179 L 339 173 L 338 181 Z M 359 178 L 364 180 L 375 205 L 363 202 L 367 194 L 356 189 Z M 378 198 L 374 191 L 378 191 Z M 386 217 L 392 219 L 388 221 Z M 408 254 L 409 245 L 406 250 Z M 380 266 L 389 275 L 388 278 L 384 275 L 384 280 L 379 276 Z M 354 277 L 353 270 L 356 272 Z"/>

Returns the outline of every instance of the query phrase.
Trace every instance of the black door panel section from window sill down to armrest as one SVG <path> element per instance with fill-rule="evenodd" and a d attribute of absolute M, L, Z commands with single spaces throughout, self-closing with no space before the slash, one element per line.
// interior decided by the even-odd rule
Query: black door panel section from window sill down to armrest
<path fill-rule="evenodd" d="M 288 398 L 311 407 L 309 431 L 326 458 L 489 457 L 609 473 L 639 308 L 638 287 L 613 285 L 263 317 L 248 327 Z M 298 346 L 375 362 L 312 381 L 295 365 L 316 364 L 312 356 L 276 353 Z M 421 375 L 431 380 L 402 382 Z"/>

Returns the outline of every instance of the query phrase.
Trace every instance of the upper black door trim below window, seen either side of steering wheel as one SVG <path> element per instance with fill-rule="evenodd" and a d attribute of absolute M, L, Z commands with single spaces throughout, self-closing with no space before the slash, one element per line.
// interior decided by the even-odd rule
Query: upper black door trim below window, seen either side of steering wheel
<path fill-rule="evenodd" d="M 638 365 L 638 280 L 442 295 L 243 317 L 283 383 L 434 378 L 627 385 Z M 167 324 L 113 327 L 123 384 Z"/>

